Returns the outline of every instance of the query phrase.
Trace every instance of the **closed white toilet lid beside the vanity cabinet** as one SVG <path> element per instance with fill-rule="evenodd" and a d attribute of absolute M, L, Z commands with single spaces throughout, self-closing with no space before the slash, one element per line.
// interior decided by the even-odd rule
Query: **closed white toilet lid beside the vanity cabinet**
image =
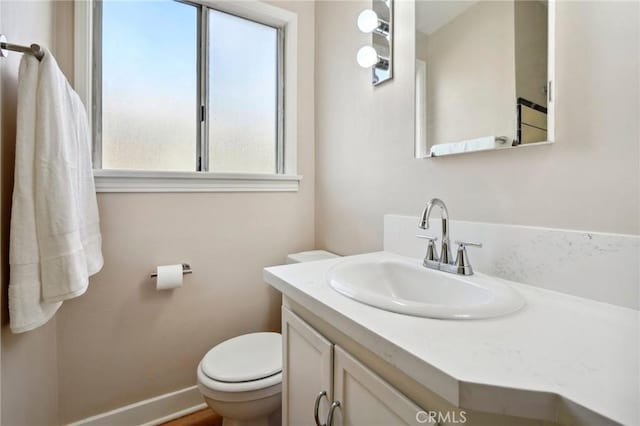
<path fill-rule="evenodd" d="M 280 333 L 251 333 L 214 346 L 202 360 L 202 371 L 220 382 L 260 380 L 282 371 Z"/>

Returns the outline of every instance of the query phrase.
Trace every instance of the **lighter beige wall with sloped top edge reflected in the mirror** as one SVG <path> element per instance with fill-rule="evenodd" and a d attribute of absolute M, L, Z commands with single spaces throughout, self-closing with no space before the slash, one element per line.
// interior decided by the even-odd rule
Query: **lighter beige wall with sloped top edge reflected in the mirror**
<path fill-rule="evenodd" d="M 516 138 L 513 20 L 513 1 L 480 1 L 428 36 L 416 33 L 427 71 L 428 146 Z"/>

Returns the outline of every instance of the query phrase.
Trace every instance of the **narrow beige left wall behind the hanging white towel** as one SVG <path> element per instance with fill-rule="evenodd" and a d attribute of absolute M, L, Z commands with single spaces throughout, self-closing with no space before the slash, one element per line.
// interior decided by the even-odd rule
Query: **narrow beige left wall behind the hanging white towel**
<path fill-rule="evenodd" d="M 10 42 L 52 45 L 53 4 L 50 2 L 0 2 L 0 29 Z M 11 193 L 16 134 L 18 65 L 21 55 L 0 59 L 0 241 L 2 258 L 2 419 L 3 425 L 45 425 L 58 414 L 56 320 L 27 334 L 9 330 L 7 288 Z"/>

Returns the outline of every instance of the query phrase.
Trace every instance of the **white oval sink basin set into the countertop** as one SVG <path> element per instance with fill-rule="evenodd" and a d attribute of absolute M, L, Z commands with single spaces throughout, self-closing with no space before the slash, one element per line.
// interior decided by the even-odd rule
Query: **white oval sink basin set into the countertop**
<path fill-rule="evenodd" d="M 347 260 L 327 273 L 339 293 L 400 314 L 442 319 L 490 318 L 517 311 L 522 296 L 488 275 L 427 269 L 418 260 Z"/>

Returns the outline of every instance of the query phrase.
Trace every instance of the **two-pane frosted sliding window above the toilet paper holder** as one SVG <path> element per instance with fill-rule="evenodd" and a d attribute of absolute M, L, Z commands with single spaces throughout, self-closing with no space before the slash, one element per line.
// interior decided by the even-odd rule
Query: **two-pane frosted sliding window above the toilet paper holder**
<path fill-rule="evenodd" d="M 285 127 L 283 108 L 284 84 L 295 83 L 284 69 L 295 15 L 258 5 L 258 19 L 250 2 L 237 3 L 241 10 L 228 11 L 206 2 L 95 2 L 94 168 L 227 180 L 295 174 L 295 126 Z"/>

